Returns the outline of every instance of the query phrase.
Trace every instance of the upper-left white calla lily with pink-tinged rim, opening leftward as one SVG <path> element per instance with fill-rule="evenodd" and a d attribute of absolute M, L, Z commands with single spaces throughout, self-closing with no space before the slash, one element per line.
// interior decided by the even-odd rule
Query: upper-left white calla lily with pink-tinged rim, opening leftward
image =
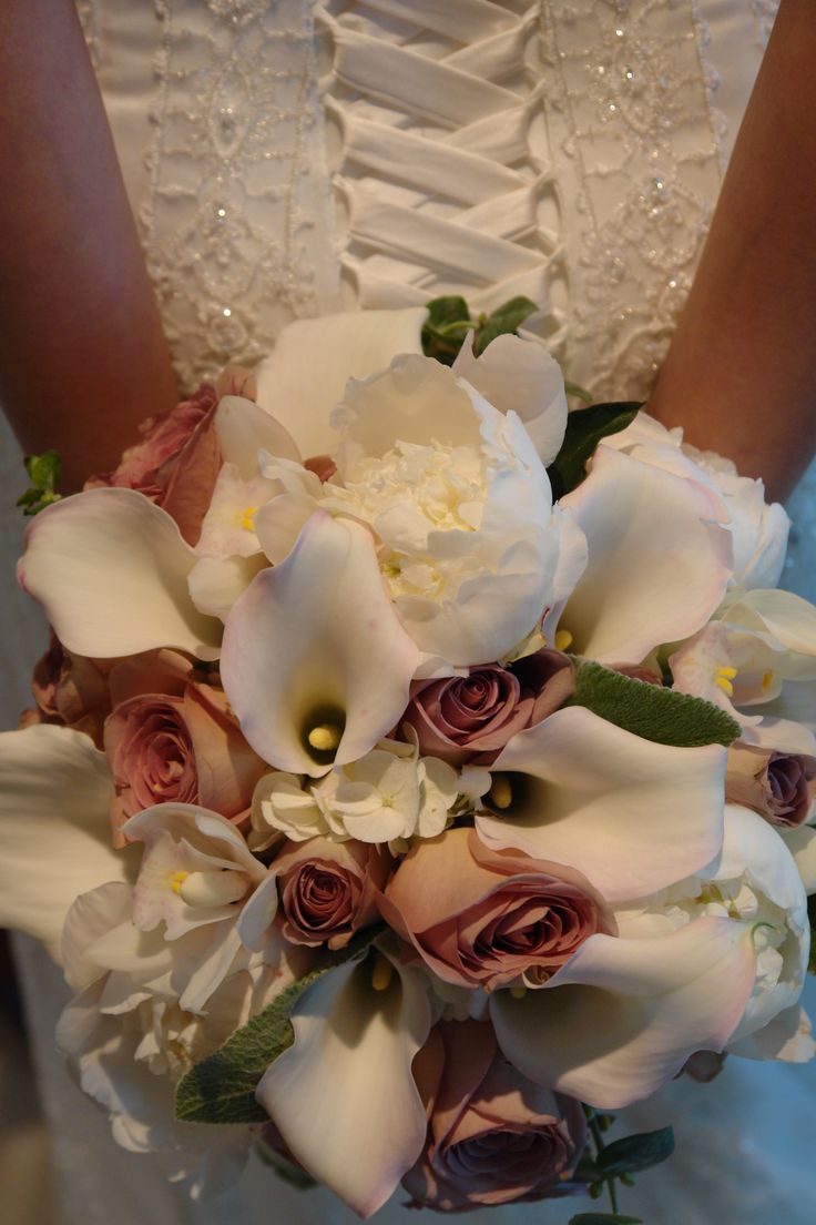
<path fill-rule="evenodd" d="M 196 560 L 170 516 L 142 494 L 92 489 L 37 516 L 18 576 L 76 654 L 176 647 L 217 659 L 220 626 L 187 590 Z"/>

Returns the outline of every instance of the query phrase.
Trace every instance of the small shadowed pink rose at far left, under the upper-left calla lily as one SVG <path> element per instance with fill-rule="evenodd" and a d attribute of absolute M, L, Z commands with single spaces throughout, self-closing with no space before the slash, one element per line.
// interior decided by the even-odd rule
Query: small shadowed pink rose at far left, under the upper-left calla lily
<path fill-rule="evenodd" d="M 23 726 L 56 723 L 84 731 L 102 747 L 105 718 L 110 713 L 108 673 L 111 660 L 86 659 L 67 650 L 51 632 L 51 642 L 34 666 L 32 691 L 37 710 L 26 712 Z"/>

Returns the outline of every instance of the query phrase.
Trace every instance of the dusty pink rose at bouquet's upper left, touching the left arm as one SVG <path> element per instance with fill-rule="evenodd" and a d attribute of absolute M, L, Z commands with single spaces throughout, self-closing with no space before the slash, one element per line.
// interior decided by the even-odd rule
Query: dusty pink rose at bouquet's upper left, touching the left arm
<path fill-rule="evenodd" d="M 84 488 L 136 489 L 172 516 L 185 540 L 195 545 L 220 468 L 217 404 L 215 388 L 202 383 L 166 415 L 143 421 L 142 442 L 124 453 L 115 472 L 92 477 Z"/>

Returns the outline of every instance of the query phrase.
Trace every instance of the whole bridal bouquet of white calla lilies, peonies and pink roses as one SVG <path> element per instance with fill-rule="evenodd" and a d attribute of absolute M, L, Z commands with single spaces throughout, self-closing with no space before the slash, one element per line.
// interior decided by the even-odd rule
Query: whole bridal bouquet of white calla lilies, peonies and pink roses
<path fill-rule="evenodd" d="M 631 1221 L 670 1129 L 608 1111 L 814 1054 L 788 519 L 636 404 L 568 413 L 524 314 L 297 322 L 82 494 L 29 461 L 54 638 L 0 916 L 116 1139 L 196 1192 L 254 1144 L 362 1216 L 401 1182 Z"/>

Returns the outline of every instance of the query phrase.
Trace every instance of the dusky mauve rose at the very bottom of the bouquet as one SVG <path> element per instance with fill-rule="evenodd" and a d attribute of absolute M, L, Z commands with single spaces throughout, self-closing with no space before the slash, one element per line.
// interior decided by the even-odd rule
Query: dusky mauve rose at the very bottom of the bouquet
<path fill-rule="evenodd" d="M 412 1207 L 455 1213 L 571 1189 L 586 1144 L 584 1110 L 516 1072 L 492 1025 L 442 1023 L 414 1067 L 428 1136 L 402 1178 Z"/>

